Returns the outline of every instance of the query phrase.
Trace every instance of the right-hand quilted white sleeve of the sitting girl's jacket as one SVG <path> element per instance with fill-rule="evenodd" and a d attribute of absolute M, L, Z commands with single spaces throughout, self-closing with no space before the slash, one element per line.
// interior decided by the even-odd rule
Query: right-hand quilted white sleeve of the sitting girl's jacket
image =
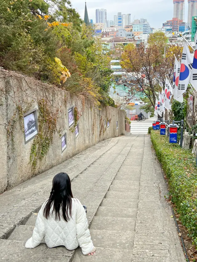
<path fill-rule="evenodd" d="M 88 223 L 86 218 L 86 212 L 82 204 L 79 202 L 77 205 L 76 213 L 76 230 L 77 240 L 83 255 L 87 255 L 94 251 L 94 245 L 90 237 L 90 231 L 88 229 Z"/>

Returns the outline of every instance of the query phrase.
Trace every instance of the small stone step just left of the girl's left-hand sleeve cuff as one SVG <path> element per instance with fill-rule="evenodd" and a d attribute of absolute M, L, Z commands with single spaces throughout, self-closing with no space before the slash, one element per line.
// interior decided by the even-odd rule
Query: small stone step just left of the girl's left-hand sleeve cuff
<path fill-rule="evenodd" d="M 34 226 L 19 225 L 11 233 L 8 240 L 18 240 L 26 242 L 30 237 L 32 237 L 33 230 Z"/>

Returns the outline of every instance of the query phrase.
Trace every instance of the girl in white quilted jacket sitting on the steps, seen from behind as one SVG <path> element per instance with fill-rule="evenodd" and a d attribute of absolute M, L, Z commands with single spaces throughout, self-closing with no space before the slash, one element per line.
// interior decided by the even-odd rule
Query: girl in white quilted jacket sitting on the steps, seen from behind
<path fill-rule="evenodd" d="M 86 206 L 72 195 L 69 176 L 57 174 L 53 178 L 50 197 L 38 213 L 33 236 L 27 240 L 25 247 L 35 248 L 44 239 L 49 248 L 65 246 L 73 250 L 80 246 L 84 255 L 93 255 L 95 248 L 85 210 Z"/>

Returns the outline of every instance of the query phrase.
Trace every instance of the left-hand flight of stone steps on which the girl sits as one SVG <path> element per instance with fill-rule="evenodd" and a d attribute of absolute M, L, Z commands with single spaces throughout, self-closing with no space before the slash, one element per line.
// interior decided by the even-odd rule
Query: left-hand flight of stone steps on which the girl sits
<path fill-rule="evenodd" d="M 118 142 L 115 149 L 112 147 L 102 154 L 86 170 L 78 174 L 71 183 L 74 197 L 88 206 L 87 218 L 89 224 L 93 220 L 113 178 L 131 149 L 132 139 L 125 138 L 122 142 Z M 33 213 L 24 225 L 17 226 L 8 239 L 0 239 L 0 257 L 2 261 L 72 261 L 75 251 L 69 251 L 65 247 L 48 248 L 46 244 L 40 244 L 34 249 L 24 248 L 26 241 L 32 236 L 37 214 Z"/>

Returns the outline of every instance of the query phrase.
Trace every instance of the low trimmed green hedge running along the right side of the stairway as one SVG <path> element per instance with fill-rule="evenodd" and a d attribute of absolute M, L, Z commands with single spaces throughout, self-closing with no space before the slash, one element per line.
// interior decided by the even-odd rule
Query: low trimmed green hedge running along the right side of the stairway
<path fill-rule="evenodd" d="M 157 157 L 168 178 L 172 201 L 175 203 L 179 219 L 187 227 L 197 246 L 197 168 L 196 158 L 191 150 L 169 144 L 168 138 L 151 131 L 151 141 Z"/>

